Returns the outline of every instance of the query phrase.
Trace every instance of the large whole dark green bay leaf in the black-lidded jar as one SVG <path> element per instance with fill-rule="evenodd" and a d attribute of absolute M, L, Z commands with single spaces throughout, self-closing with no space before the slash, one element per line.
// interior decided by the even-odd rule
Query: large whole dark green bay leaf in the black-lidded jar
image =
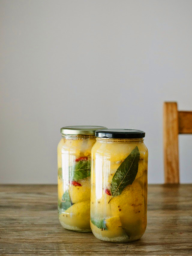
<path fill-rule="evenodd" d="M 134 182 L 138 171 L 139 158 L 140 152 L 136 146 L 128 157 L 126 157 L 125 160 L 120 164 L 113 176 L 111 182 L 112 198 L 109 200 L 109 202 L 113 199 L 113 197 L 120 195 L 125 187 Z"/>

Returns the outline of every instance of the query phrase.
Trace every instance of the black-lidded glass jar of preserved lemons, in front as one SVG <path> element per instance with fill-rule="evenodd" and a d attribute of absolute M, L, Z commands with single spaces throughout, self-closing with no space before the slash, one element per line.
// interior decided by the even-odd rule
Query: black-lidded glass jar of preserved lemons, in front
<path fill-rule="evenodd" d="M 147 225 L 145 132 L 106 129 L 95 134 L 91 150 L 91 230 L 104 241 L 137 240 Z"/>

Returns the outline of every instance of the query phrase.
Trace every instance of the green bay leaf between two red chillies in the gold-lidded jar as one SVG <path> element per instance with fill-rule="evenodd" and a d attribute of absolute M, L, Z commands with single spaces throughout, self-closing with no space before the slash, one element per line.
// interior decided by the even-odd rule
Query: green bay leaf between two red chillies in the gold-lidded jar
<path fill-rule="evenodd" d="M 91 162 L 79 161 L 73 167 L 70 167 L 70 177 L 72 180 L 85 179 L 91 175 Z"/>

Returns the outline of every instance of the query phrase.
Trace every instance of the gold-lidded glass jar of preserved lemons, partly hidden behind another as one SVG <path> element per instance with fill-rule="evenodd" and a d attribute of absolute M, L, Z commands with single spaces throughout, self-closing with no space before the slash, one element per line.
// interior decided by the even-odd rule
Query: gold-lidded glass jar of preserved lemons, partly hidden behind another
<path fill-rule="evenodd" d="M 69 230 L 90 231 L 91 148 L 102 126 L 66 126 L 58 143 L 58 215 Z"/>

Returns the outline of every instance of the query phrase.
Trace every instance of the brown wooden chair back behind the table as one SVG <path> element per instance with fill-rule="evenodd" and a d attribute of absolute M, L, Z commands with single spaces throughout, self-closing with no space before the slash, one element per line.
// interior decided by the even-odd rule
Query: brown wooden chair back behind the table
<path fill-rule="evenodd" d="M 165 183 L 179 184 L 178 134 L 192 133 L 192 111 L 178 111 L 177 102 L 164 102 L 163 142 Z"/>

